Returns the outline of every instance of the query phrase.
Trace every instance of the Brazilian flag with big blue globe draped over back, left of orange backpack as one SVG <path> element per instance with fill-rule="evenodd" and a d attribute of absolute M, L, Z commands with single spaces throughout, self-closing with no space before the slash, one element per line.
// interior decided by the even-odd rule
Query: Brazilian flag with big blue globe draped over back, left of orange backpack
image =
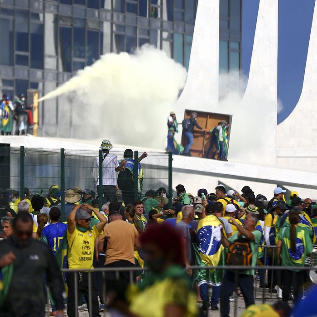
<path fill-rule="evenodd" d="M 222 266 L 225 264 L 225 252 L 221 244 L 222 229 L 219 227 L 220 224 L 220 220 L 214 215 L 206 216 L 198 223 L 199 253 L 202 261 L 207 266 Z M 221 285 L 224 274 L 223 270 L 212 269 L 206 272 L 206 274 L 206 281 L 211 285 Z M 206 281 L 202 281 L 200 284 Z"/>

